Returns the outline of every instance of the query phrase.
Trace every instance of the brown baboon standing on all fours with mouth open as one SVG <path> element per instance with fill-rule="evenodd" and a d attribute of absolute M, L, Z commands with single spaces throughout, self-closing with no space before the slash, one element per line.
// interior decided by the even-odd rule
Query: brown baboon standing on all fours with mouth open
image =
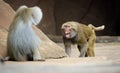
<path fill-rule="evenodd" d="M 84 25 L 78 22 L 66 22 L 62 25 L 62 35 L 65 52 L 71 56 L 71 44 L 77 44 L 80 57 L 94 57 L 95 31 L 103 30 L 104 25 L 94 27 L 92 24 Z"/>

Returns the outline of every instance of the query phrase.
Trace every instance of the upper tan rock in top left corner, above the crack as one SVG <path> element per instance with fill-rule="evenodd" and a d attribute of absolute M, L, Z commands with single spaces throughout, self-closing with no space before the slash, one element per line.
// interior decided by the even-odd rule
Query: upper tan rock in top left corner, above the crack
<path fill-rule="evenodd" d="M 0 1 L 0 27 L 8 30 L 14 15 L 15 11 L 13 11 L 10 5 L 4 1 Z"/>

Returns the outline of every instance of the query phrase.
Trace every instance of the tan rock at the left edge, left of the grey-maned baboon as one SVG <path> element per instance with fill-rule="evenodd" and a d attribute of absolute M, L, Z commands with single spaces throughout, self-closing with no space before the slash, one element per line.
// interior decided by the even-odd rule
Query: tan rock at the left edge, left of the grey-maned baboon
<path fill-rule="evenodd" d="M 6 38 L 14 14 L 13 9 L 7 3 L 0 0 L 0 56 L 2 57 L 6 56 Z"/>

